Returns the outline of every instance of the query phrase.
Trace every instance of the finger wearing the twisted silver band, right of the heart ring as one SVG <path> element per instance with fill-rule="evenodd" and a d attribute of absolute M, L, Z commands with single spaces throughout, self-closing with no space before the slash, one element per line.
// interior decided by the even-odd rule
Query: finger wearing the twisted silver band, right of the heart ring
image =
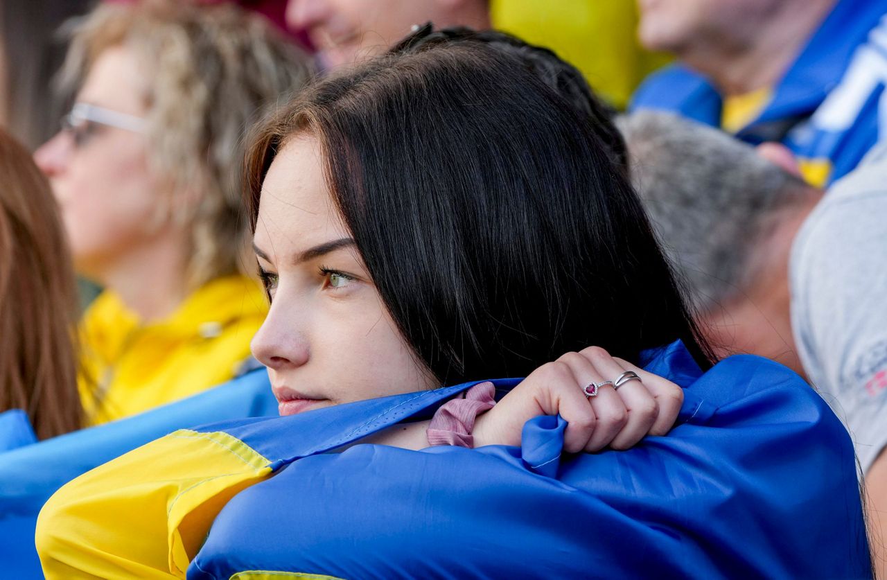
<path fill-rule="evenodd" d="M 630 370 L 624 368 L 614 357 L 610 357 L 604 349 L 588 349 L 588 351 L 586 356 L 592 360 L 594 368 L 606 380 L 615 383 L 626 370 Z M 619 450 L 629 449 L 648 435 L 658 415 L 658 405 L 654 396 L 640 380 L 624 382 L 618 389 L 614 385 L 614 389 L 624 404 L 627 418 L 624 427 L 613 437 L 609 446 Z"/>

